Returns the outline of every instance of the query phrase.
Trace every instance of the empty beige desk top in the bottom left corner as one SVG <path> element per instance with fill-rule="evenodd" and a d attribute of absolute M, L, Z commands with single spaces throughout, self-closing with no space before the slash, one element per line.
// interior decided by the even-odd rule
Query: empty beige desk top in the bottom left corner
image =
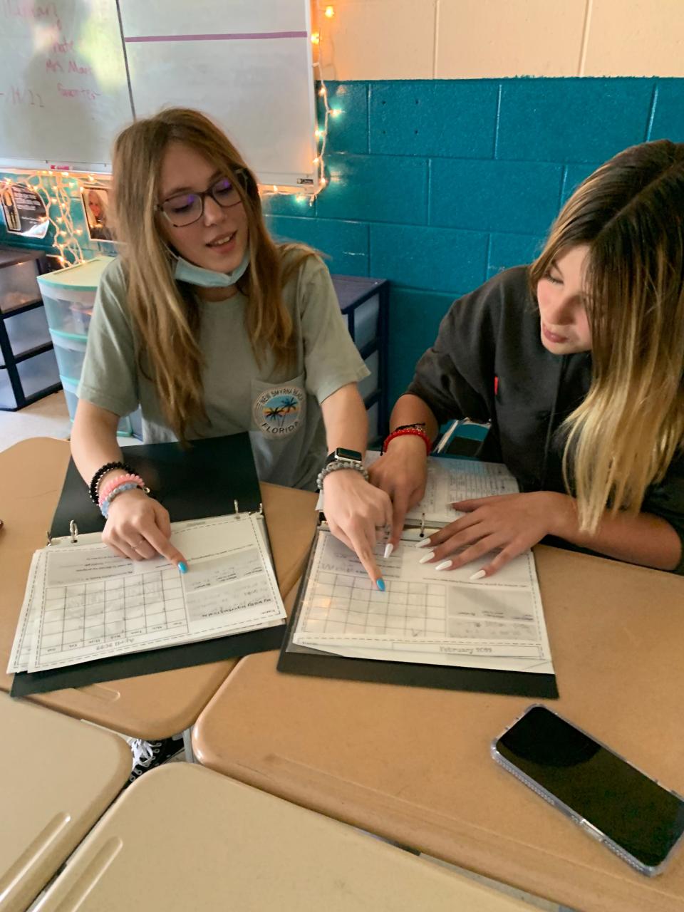
<path fill-rule="evenodd" d="M 0 909 L 25 909 L 130 775 L 110 731 L 0 694 Z"/>

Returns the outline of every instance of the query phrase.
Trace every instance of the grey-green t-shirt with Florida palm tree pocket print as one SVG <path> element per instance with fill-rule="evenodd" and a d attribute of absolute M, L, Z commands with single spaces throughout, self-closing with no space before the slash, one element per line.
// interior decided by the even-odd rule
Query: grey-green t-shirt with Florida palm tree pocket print
<path fill-rule="evenodd" d="M 249 301 L 241 293 L 200 301 L 200 347 L 208 421 L 192 437 L 250 432 L 254 461 L 264 482 L 313 490 L 326 457 L 320 403 L 347 383 L 368 376 L 349 336 L 325 264 L 306 257 L 283 289 L 295 327 L 296 354 L 289 369 L 275 368 L 270 352 L 259 365 L 245 328 Z M 137 340 L 119 259 L 98 286 L 78 396 L 119 416 L 140 405 L 143 440 L 175 440 L 153 383 L 140 371 Z"/>

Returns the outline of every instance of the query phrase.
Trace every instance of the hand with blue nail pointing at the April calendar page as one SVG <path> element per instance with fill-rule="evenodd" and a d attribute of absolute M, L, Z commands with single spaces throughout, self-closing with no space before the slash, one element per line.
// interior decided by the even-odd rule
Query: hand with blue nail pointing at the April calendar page
<path fill-rule="evenodd" d="M 185 573 L 185 558 L 170 538 L 168 511 L 140 488 L 120 493 L 109 504 L 102 541 L 119 557 L 142 561 L 161 554 Z"/>

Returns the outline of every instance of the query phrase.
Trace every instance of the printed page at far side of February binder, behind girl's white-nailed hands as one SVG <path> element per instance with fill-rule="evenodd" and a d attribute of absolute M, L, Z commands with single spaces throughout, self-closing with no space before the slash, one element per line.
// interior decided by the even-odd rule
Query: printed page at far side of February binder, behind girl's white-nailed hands
<path fill-rule="evenodd" d="M 371 465 L 379 458 L 378 452 L 370 451 L 366 455 L 366 464 Z M 495 494 L 517 494 L 519 490 L 518 482 L 501 462 L 430 456 L 425 496 L 409 510 L 406 518 L 420 522 L 424 516 L 428 523 L 446 525 L 462 515 L 453 509 L 451 503 Z"/>

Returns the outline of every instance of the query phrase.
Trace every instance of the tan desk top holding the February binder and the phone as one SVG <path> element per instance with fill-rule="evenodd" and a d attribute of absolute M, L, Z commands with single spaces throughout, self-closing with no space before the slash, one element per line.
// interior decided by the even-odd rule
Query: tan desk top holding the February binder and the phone
<path fill-rule="evenodd" d="M 549 705 L 684 793 L 684 578 L 535 549 L 560 700 Z M 684 851 L 633 872 L 497 766 L 532 700 L 297 677 L 245 658 L 193 730 L 218 772 L 582 912 L 684 909 Z"/>

